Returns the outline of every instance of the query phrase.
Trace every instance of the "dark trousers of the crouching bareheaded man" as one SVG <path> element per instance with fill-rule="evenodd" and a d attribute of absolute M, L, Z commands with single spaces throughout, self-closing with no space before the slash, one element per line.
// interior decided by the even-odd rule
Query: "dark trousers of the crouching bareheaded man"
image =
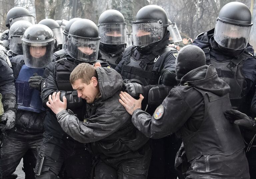
<path fill-rule="evenodd" d="M 136 152 L 116 158 L 96 158 L 93 164 L 95 179 L 146 179 L 151 157 L 148 144 Z"/>

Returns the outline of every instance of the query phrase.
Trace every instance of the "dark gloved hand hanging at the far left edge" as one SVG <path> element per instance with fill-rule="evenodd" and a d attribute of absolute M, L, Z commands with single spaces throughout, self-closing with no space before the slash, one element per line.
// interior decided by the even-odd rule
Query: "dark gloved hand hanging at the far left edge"
<path fill-rule="evenodd" d="M 4 132 L 6 129 L 11 129 L 15 126 L 15 112 L 13 110 L 6 110 L 1 118 L 1 123 L 5 124 L 0 124 L 0 129 L 2 132 Z"/>

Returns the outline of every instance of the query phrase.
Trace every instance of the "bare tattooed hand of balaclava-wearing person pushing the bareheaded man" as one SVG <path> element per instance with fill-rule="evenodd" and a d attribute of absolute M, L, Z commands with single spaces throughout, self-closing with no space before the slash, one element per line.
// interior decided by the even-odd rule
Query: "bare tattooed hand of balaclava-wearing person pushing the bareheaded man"
<path fill-rule="evenodd" d="M 124 106 L 130 115 L 132 115 L 133 111 L 136 109 L 141 109 L 141 102 L 144 99 L 142 94 L 140 94 L 140 98 L 138 100 L 134 99 L 130 94 L 123 91 L 121 91 L 119 96 L 121 98 L 119 99 L 119 102 Z"/>

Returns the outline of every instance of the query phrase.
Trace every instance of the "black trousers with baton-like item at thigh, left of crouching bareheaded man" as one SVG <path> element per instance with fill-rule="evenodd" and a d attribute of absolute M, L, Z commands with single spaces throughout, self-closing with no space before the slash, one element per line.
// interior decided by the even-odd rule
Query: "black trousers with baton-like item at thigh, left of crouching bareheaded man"
<path fill-rule="evenodd" d="M 44 133 L 35 168 L 36 178 L 57 179 L 62 165 L 64 178 L 89 178 L 91 155 L 84 144 L 69 136 L 61 139 Z"/>

